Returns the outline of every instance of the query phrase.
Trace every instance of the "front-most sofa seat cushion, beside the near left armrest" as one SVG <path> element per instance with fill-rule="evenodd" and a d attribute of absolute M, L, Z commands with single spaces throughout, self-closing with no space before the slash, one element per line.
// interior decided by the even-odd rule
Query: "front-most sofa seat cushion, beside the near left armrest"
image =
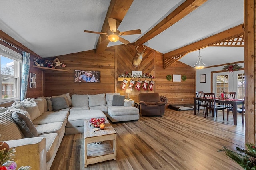
<path fill-rule="evenodd" d="M 40 137 L 45 137 L 46 139 L 46 161 L 49 161 L 54 151 L 58 148 L 59 135 L 57 133 L 42 134 Z"/>

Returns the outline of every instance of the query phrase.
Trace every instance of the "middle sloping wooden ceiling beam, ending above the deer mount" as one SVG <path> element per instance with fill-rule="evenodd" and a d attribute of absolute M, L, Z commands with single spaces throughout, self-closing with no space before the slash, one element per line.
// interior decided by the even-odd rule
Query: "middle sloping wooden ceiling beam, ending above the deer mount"
<path fill-rule="evenodd" d="M 149 32 L 144 34 L 139 40 L 134 42 L 134 45 L 143 44 L 148 40 L 154 38 L 182 18 L 188 15 L 190 12 L 194 11 L 196 8 L 204 4 L 207 0 L 186 0 L 178 8 L 176 8 L 171 14 L 159 22 L 154 28 Z"/>

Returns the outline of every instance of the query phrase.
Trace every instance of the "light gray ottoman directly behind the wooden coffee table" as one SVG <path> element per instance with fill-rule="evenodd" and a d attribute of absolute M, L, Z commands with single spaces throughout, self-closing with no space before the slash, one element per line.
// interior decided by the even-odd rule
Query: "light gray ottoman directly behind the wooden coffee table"
<path fill-rule="evenodd" d="M 84 133 L 84 119 L 106 117 L 101 110 L 71 111 L 65 128 L 65 134 Z"/>

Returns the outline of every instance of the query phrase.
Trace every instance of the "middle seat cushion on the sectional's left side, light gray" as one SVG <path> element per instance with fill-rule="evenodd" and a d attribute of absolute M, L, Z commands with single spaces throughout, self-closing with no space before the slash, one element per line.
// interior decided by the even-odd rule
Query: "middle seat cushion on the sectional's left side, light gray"
<path fill-rule="evenodd" d="M 38 135 L 48 134 L 48 133 L 57 133 L 61 134 L 63 130 L 65 130 L 65 125 L 63 122 L 53 122 L 46 123 L 42 125 L 35 125 Z"/>

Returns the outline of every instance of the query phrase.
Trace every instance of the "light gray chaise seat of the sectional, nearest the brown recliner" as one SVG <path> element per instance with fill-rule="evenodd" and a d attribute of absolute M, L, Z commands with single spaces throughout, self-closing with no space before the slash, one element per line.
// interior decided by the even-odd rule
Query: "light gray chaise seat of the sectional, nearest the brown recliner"
<path fill-rule="evenodd" d="M 107 106 L 107 117 L 112 122 L 138 121 L 139 109 L 133 106 Z"/>

